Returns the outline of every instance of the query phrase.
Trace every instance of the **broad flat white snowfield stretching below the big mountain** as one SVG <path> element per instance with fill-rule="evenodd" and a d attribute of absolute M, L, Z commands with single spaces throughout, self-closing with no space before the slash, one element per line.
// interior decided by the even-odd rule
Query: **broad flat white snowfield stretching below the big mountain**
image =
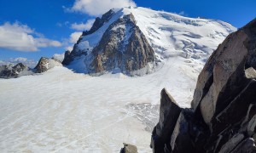
<path fill-rule="evenodd" d="M 189 67 L 181 60 L 144 77 L 90 77 L 55 67 L 0 79 L 1 152 L 119 152 L 123 142 L 151 152 L 160 90 L 189 106 L 195 88 L 198 72 L 183 74 Z"/>

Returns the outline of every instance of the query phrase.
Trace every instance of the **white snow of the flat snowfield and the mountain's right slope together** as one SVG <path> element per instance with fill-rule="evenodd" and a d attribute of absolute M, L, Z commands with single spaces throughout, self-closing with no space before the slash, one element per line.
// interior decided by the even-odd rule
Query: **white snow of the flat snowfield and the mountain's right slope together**
<path fill-rule="evenodd" d="M 146 8 L 125 9 L 133 11 L 143 33 L 151 32 L 146 37 L 161 60 L 154 73 L 90 77 L 60 66 L 37 76 L 0 79 L 1 152 L 119 152 L 123 142 L 136 144 L 140 153 L 152 151 L 150 137 L 158 122 L 161 89 L 166 88 L 178 105 L 190 107 L 204 59 L 236 28 Z M 198 28 L 205 22 L 212 31 Z M 164 28 L 173 24 L 178 31 Z M 98 37 L 101 30 L 96 31 Z M 184 50 L 195 43 L 198 48 Z M 181 51 L 201 58 L 186 59 L 177 54 Z"/>

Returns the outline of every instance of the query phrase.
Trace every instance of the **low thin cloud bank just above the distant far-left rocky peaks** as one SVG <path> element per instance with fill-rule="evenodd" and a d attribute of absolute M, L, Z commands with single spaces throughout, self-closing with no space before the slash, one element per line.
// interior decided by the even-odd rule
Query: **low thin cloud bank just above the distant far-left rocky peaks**
<path fill-rule="evenodd" d="M 27 65 L 31 68 L 35 67 L 38 64 L 38 62 L 36 62 L 34 59 L 26 59 L 23 57 L 0 60 L 0 65 L 16 65 L 18 63 L 23 63 L 24 65 Z"/>

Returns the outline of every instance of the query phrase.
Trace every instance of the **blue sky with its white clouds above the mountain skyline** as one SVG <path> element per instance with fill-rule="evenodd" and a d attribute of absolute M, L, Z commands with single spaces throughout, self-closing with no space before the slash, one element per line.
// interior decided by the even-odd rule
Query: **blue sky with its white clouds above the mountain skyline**
<path fill-rule="evenodd" d="M 224 20 L 236 27 L 256 17 L 255 0 L 1 0 L 0 64 L 62 54 L 96 16 L 127 5 Z"/>

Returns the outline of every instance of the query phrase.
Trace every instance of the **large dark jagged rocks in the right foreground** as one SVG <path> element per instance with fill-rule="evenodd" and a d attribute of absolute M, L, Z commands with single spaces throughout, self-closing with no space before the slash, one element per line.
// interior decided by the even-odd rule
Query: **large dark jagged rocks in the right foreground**
<path fill-rule="evenodd" d="M 208 59 L 195 88 L 191 109 L 180 109 L 171 96 L 152 134 L 154 152 L 256 152 L 256 19 L 230 34 Z M 166 93 L 163 90 L 162 93 Z M 162 101 L 164 100 L 164 101 Z M 164 139 L 156 129 L 170 122 Z M 174 121 L 177 121 L 173 123 Z M 171 136 L 169 136 L 169 133 Z"/>

